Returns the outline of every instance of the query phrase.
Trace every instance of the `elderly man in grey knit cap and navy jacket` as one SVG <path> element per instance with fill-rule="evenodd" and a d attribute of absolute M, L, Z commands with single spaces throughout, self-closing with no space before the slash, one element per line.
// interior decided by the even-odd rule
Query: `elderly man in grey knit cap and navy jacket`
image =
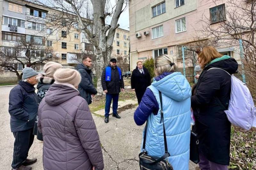
<path fill-rule="evenodd" d="M 28 151 L 34 141 L 33 127 L 38 110 L 38 102 L 34 85 L 38 73 L 30 67 L 22 70 L 22 80 L 9 95 L 9 113 L 11 115 L 11 131 L 14 135 L 12 169 L 31 170 L 28 166 L 36 162 L 36 158 L 28 159 Z"/>

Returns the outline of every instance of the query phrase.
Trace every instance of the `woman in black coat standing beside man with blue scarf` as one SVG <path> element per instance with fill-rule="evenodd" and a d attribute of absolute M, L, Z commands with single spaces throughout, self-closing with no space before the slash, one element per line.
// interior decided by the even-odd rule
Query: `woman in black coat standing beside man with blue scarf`
<path fill-rule="evenodd" d="M 132 71 L 131 87 L 132 90 L 135 90 L 139 104 L 142 96 L 150 84 L 151 77 L 148 69 L 143 66 L 141 61 L 138 61 L 136 68 Z"/>

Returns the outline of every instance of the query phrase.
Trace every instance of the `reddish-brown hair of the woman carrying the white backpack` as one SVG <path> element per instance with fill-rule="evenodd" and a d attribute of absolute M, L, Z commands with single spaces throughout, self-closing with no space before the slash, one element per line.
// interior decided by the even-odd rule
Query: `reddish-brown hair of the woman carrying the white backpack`
<path fill-rule="evenodd" d="M 204 69 L 204 67 L 215 58 L 220 58 L 223 56 L 223 54 L 220 54 L 212 46 L 204 46 L 203 48 L 196 49 L 196 54 L 198 54 L 198 58 L 204 60 L 202 69 Z"/>

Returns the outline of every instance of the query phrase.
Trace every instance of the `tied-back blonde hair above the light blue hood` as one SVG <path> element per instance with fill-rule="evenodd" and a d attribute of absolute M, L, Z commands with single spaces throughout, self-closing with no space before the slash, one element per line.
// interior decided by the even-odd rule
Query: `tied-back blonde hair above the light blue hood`
<path fill-rule="evenodd" d="M 177 65 L 174 64 L 174 59 L 168 55 L 160 55 L 155 59 L 155 73 L 156 76 L 163 74 L 164 72 L 176 72 Z"/>

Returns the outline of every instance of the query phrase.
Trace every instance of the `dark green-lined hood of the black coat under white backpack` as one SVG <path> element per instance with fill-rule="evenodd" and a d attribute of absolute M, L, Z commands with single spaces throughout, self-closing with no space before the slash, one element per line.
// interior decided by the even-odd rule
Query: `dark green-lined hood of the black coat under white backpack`
<path fill-rule="evenodd" d="M 221 68 L 227 71 L 229 74 L 234 74 L 238 69 L 238 64 L 234 58 L 225 55 L 220 58 L 212 60 L 211 63 L 207 65 L 204 69 L 208 70 L 209 68 L 213 67 Z"/>

